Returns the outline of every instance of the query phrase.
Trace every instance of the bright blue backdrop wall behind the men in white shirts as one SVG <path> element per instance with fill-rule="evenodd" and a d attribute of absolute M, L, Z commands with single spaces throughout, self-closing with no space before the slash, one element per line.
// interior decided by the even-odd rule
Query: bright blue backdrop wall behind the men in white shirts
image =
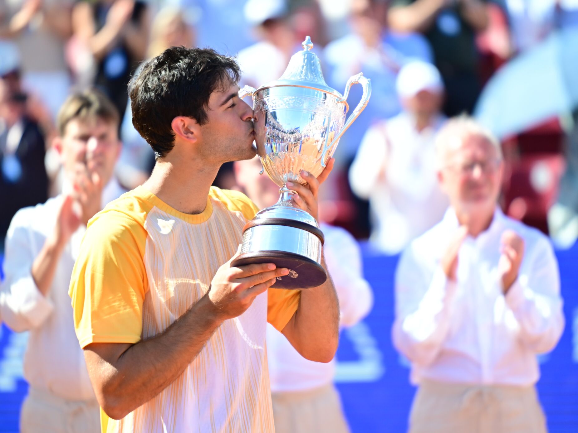
<path fill-rule="evenodd" d="M 336 381 L 354 433 L 402 433 L 414 393 L 409 370 L 391 345 L 393 278 L 397 257 L 362 245 L 365 275 L 375 307 L 357 326 L 344 330 Z M 542 357 L 540 400 L 551 433 L 578 432 L 578 246 L 557 252 L 565 300 L 566 329 L 557 348 Z M 27 390 L 21 357 L 25 334 L 0 329 L 0 432 L 18 430 L 20 404 Z"/>

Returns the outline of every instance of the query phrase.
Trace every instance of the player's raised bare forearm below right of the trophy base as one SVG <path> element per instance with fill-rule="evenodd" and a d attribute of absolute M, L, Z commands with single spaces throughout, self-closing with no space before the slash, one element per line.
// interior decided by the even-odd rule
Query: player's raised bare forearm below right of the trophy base
<path fill-rule="evenodd" d="M 323 267 L 325 259 L 323 259 Z M 301 356 L 328 363 L 339 344 L 339 301 L 328 273 L 323 285 L 302 290 L 299 308 L 283 329 L 283 334 Z"/>

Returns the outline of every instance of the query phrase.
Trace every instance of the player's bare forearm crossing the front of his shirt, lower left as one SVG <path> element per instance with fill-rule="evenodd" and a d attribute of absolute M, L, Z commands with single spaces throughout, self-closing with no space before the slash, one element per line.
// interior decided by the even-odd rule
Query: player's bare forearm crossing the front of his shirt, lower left
<path fill-rule="evenodd" d="M 97 390 L 103 410 L 121 419 L 156 397 L 197 357 L 221 323 L 204 296 L 164 333 L 129 346 Z"/>

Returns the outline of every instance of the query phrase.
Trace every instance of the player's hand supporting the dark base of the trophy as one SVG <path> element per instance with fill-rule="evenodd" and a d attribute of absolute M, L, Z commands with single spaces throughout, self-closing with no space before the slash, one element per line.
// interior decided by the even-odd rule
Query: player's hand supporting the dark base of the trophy
<path fill-rule="evenodd" d="M 208 297 L 219 320 L 240 316 L 258 294 L 275 284 L 277 277 L 289 273 L 287 268 L 276 268 L 273 263 L 231 266 L 232 260 L 239 254 L 240 246 L 235 255 L 218 268 L 211 281 Z"/>

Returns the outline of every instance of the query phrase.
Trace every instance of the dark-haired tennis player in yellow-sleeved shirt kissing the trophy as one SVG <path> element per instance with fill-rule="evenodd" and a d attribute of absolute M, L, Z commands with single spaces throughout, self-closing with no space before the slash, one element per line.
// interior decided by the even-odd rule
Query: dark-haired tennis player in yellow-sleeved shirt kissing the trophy
<path fill-rule="evenodd" d="M 129 87 L 133 124 L 156 164 L 92 218 L 69 290 L 103 432 L 275 431 L 266 322 L 303 357 L 334 357 L 331 278 L 281 290 L 274 283 L 285 268 L 231 266 L 257 211 L 242 193 L 211 186 L 224 162 L 255 155 L 239 74 L 213 50 L 172 47 Z M 291 186 L 316 218 L 332 165 L 317 179 L 302 173 L 307 187 Z"/>

